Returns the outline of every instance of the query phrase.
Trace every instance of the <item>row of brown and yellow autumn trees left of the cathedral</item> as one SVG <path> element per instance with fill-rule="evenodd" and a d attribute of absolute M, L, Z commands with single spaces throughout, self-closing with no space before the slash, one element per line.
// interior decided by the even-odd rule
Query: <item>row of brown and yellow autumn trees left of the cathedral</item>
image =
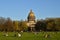
<path fill-rule="evenodd" d="M 12 21 L 10 18 L 0 17 L 0 31 L 21 31 L 27 30 L 25 21 Z"/>

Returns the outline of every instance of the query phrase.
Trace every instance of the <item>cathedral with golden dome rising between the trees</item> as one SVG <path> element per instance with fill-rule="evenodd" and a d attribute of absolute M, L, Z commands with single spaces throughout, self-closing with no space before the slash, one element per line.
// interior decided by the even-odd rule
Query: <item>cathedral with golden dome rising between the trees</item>
<path fill-rule="evenodd" d="M 35 29 L 35 21 L 36 17 L 34 15 L 34 12 L 32 10 L 30 10 L 28 17 L 27 17 L 27 26 L 30 29 L 30 31 L 34 31 Z"/>

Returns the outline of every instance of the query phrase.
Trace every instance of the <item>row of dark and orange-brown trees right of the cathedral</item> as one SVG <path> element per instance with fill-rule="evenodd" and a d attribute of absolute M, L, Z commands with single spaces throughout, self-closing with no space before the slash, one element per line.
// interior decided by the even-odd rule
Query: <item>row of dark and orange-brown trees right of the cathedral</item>
<path fill-rule="evenodd" d="M 60 31 L 60 18 L 46 18 L 36 23 L 36 30 Z"/>

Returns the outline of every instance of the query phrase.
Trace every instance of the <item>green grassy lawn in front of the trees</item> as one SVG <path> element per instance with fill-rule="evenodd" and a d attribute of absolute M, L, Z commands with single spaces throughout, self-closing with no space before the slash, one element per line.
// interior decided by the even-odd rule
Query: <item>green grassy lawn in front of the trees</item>
<path fill-rule="evenodd" d="M 14 32 L 9 32 L 9 36 L 3 36 L 3 32 L 0 32 L 0 40 L 60 40 L 60 32 L 39 32 L 34 34 L 31 32 L 22 33 L 21 37 L 14 37 Z M 44 34 L 49 34 L 49 38 L 44 38 Z"/>

